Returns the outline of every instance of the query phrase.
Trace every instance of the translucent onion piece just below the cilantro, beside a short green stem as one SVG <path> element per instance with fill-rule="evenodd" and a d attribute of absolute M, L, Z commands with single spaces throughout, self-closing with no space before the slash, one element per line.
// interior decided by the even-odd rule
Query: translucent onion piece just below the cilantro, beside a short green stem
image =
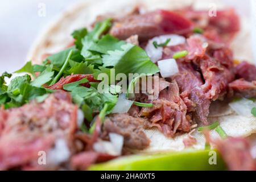
<path fill-rule="evenodd" d="M 126 99 L 125 94 L 119 94 L 117 104 L 114 106 L 112 113 L 127 113 L 133 105 L 133 101 Z"/>

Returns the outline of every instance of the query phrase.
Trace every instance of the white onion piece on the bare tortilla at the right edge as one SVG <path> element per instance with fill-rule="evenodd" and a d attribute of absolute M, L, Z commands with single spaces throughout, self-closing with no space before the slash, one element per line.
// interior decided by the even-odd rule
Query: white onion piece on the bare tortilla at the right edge
<path fill-rule="evenodd" d="M 246 117 L 250 117 L 253 116 L 253 114 L 251 114 L 251 109 L 253 109 L 253 107 L 256 107 L 256 103 L 248 100 L 246 98 L 242 98 L 239 101 L 235 101 L 235 102 L 230 102 L 229 106 L 239 115 L 243 115 Z"/>

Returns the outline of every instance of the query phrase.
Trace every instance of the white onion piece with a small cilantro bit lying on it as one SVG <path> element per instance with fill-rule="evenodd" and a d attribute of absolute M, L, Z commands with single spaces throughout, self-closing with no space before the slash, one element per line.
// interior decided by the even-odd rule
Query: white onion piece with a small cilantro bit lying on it
<path fill-rule="evenodd" d="M 186 41 L 184 36 L 180 36 L 176 34 L 161 35 L 148 40 L 145 51 L 147 52 L 147 55 L 150 57 L 153 63 L 156 63 L 156 61 L 160 60 L 163 56 L 163 47 L 155 48 L 153 42 L 155 41 L 158 44 L 163 44 L 168 39 L 171 39 L 171 40 L 167 44 L 167 46 L 176 46 L 179 44 L 184 44 Z"/>

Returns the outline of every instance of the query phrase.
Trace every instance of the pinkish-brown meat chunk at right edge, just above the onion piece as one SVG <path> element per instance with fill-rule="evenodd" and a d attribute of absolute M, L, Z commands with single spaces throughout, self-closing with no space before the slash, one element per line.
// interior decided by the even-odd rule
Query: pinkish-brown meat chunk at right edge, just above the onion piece
<path fill-rule="evenodd" d="M 256 97 L 256 81 L 246 81 L 243 78 L 230 82 L 230 96 L 237 95 L 240 97 Z"/>

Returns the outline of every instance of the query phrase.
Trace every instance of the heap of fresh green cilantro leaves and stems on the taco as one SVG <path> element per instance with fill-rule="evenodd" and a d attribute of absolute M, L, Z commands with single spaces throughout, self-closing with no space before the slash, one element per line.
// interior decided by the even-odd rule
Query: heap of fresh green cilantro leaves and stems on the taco
<path fill-rule="evenodd" d="M 107 73 L 115 69 L 115 73 L 139 73 L 139 75 L 154 75 L 159 68 L 152 63 L 147 53 L 139 46 L 118 40 L 108 34 L 112 26 L 111 19 L 95 24 L 92 31 L 81 28 L 73 32 L 75 46 L 64 49 L 53 55 L 49 55 L 43 64 L 33 65 L 31 61 L 16 73 L 28 73 L 15 77 L 9 85 L 5 77 L 11 77 L 4 73 L 0 77 L 0 105 L 5 109 L 19 107 L 23 104 L 36 100 L 43 102 L 49 94 L 55 90 L 47 89 L 47 86 L 56 84 L 61 77 L 72 74 L 91 74 L 94 78 L 100 73 Z M 170 40 L 158 46 L 167 45 Z M 82 84 L 88 82 L 86 78 L 71 82 L 63 86 L 66 92 L 71 93 L 73 102 L 78 105 L 84 113 L 88 122 L 93 117 L 100 115 L 101 121 L 110 114 L 118 100 L 117 85 L 109 83 L 108 92 L 98 92 L 97 84 L 90 83 L 91 87 L 86 88 Z M 136 104 L 136 102 L 135 102 Z M 150 104 L 140 104 L 151 106 Z M 84 131 L 85 125 L 82 125 Z"/>

